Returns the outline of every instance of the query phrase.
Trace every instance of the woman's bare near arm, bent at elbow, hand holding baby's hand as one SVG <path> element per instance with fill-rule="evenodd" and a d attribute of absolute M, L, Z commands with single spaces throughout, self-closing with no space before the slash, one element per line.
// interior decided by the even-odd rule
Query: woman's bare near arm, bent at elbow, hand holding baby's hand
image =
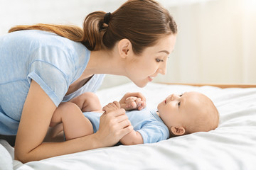
<path fill-rule="evenodd" d="M 124 111 L 119 109 L 102 115 L 100 129 L 95 134 L 65 142 L 43 143 L 55 109 L 53 101 L 36 81 L 32 81 L 18 127 L 15 159 L 25 163 L 88 149 L 108 147 L 116 144 L 124 135 L 132 131 L 129 121 L 125 121 L 122 116 L 125 115 Z"/>

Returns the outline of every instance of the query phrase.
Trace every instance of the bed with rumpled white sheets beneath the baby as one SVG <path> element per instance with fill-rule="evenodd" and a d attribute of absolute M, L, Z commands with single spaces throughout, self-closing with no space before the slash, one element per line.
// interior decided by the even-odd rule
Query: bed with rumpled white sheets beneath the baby
<path fill-rule="evenodd" d="M 104 106 L 128 91 L 142 92 L 149 108 L 156 108 L 169 94 L 199 91 L 215 103 L 220 123 L 210 132 L 154 144 L 105 147 L 26 164 L 13 160 L 14 148 L 1 140 L 0 169 L 256 169 L 256 86 L 150 83 L 141 89 L 130 83 L 97 95 Z"/>

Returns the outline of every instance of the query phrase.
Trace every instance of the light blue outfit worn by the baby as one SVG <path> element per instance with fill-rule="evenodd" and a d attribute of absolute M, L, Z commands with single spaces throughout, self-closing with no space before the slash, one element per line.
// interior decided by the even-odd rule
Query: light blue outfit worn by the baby
<path fill-rule="evenodd" d="M 102 113 L 84 112 L 86 118 L 92 123 L 93 131 L 97 132 Z M 134 130 L 142 135 L 144 143 L 154 143 L 169 138 L 169 130 L 156 111 L 144 108 L 142 111 L 126 112 Z"/>

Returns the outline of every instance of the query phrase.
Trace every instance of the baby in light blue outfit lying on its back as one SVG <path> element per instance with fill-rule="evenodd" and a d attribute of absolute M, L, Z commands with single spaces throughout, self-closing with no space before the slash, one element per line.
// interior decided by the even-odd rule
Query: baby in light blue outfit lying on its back
<path fill-rule="evenodd" d="M 123 108 L 134 130 L 122 137 L 120 142 L 137 145 L 193 132 L 208 132 L 217 128 L 219 122 L 218 110 L 210 98 L 195 91 L 171 94 L 159 103 L 157 110 L 143 106 L 145 102 L 141 98 L 126 98 L 124 95 L 120 103 L 114 101 L 102 108 L 99 98 L 86 92 L 69 102 L 60 103 L 53 113 L 50 127 L 63 123 L 65 140 L 71 140 L 97 132 L 102 114 Z"/>

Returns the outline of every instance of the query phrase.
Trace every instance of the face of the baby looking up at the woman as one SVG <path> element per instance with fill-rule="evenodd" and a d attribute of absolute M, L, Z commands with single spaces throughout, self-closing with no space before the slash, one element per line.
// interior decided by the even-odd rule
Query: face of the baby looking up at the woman
<path fill-rule="evenodd" d="M 198 118 L 203 104 L 208 98 L 195 91 L 171 94 L 157 106 L 160 118 L 168 128 L 183 126 L 183 123 Z"/>

